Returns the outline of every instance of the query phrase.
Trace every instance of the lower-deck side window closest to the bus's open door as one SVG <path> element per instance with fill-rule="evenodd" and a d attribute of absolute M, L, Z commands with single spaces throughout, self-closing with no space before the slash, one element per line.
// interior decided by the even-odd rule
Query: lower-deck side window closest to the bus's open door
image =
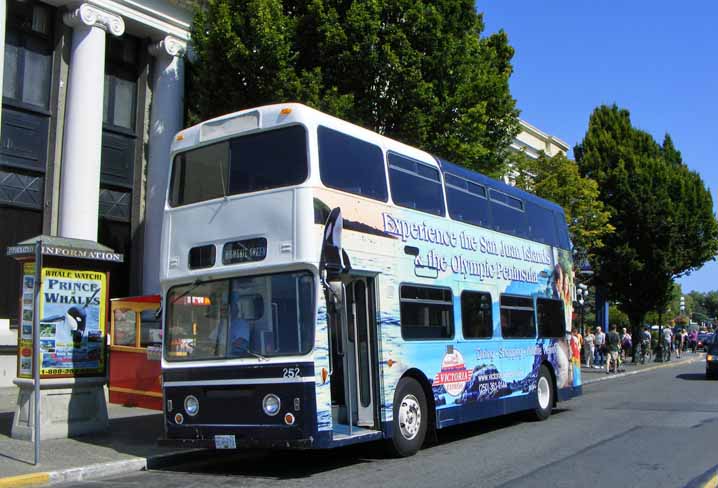
<path fill-rule="evenodd" d="M 450 339 L 454 336 L 451 290 L 401 287 L 401 336 L 404 339 Z"/>

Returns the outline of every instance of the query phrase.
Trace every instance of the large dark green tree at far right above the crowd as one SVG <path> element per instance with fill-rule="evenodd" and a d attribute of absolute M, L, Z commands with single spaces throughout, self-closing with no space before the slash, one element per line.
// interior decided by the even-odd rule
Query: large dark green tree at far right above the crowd
<path fill-rule="evenodd" d="M 582 174 L 598 182 L 615 227 L 596 251 L 594 278 L 620 303 L 635 334 L 649 311 L 665 313 L 673 279 L 718 251 L 710 192 L 670 137 L 659 145 L 615 105 L 594 110 L 574 154 Z"/>

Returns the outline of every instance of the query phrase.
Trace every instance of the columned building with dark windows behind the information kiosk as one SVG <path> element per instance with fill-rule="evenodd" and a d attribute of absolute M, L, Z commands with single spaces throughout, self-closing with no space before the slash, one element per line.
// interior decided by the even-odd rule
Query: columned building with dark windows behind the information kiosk
<path fill-rule="evenodd" d="M 1 3 L 0 327 L 19 308 L 20 270 L 5 248 L 38 234 L 124 253 L 112 296 L 157 292 L 190 2 Z"/>

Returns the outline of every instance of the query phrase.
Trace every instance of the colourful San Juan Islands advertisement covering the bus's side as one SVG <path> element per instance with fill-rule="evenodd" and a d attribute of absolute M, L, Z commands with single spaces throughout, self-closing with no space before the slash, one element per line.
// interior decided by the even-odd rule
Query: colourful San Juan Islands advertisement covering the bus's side
<path fill-rule="evenodd" d="M 352 265 L 383 271 L 379 357 L 389 358 L 392 366 L 383 369 L 387 388 L 382 421 L 392 420 L 393 391 L 408 367 L 431 375 L 438 411 L 531 394 L 543 362 L 552 365 L 558 389 L 580 386 L 567 340 L 573 314 L 569 251 L 488 229 L 449 227 L 437 217 L 415 220 L 413 213 L 397 209 L 387 212 L 380 203 L 362 202 L 360 209 L 352 198 L 333 191 L 320 195 L 315 199 L 316 208 L 342 209 L 343 245 L 351 250 Z M 316 231 L 322 231 L 322 226 Z M 414 248 L 413 255 L 406 246 Z M 433 276 L 426 276 L 427 268 L 435 271 Z M 445 340 L 406 341 L 401 332 L 399 290 L 402 283 L 427 278 L 435 287 L 453 288 L 458 279 L 463 289 L 478 287 L 493 292 L 495 317 L 501 316 L 496 300 L 501 295 L 558 299 L 563 305 L 561 337 L 516 338 L 507 343 L 502 339 L 499 320 L 494 326 L 498 330 L 486 339 L 463 340 L 452 346 L 446 346 Z M 458 299 L 456 295 L 454 300 Z M 325 328 L 324 307 L 322 312 L 318 326 Z M 458 337 L 457 331 L 454 336 Z M 325 340 L 323 335 L 317 337 L 317 344 Z M 329 392 L 322 391 L 321 386 L 317 385 L 318 394 L 326 403 L 319 401 L 318 406 L 324 403 L 328 407 Z M 437 415 L 441 419 L 439 412 Z M 330 428 L 329 417 L 328 412 L 318 412 L 320 430 Z"/>

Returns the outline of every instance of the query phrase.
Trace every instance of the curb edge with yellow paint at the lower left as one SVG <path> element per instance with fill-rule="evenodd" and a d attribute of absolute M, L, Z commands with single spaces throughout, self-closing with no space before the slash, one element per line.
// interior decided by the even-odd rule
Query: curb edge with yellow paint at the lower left
<path fill-rule="evenodd" d="M 213 451 L 207 449 L 193 449 L 182 452 L 159 454 L 146 458 L 135 457 L 121 461 L 90 464 L 76 468 L 60 469 L 56 471 L 45 471 L 17 476 L 0 478 L 0 488 L 20 486 L 40 486 L 57 483 L 68 483 L 74 481 L 107 478 L 110 476 L 128 473 L 132 471 L 147 471 L 149 469 L 160 469 L 169 466 L 183 464 L 187 461 L 197 461 L 213 455 Z"/>

